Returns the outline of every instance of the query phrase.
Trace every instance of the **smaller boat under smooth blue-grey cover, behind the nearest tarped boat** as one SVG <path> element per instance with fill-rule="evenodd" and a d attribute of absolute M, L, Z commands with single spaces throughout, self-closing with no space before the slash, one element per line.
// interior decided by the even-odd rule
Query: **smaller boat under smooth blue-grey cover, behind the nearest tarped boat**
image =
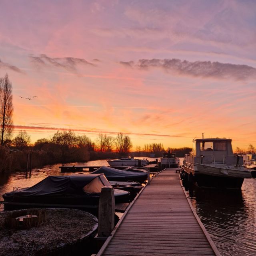
<path fill-rule="evenodd" d="M 101 166 L 96 171 L 91 172 L 91 174 L 103 173 L 108 180 L 111 181 L 137 181 L 144 182 L 148 175 L 146 172 L 130 172 L 125 170 L 117 170 L 108 166 Z"/>

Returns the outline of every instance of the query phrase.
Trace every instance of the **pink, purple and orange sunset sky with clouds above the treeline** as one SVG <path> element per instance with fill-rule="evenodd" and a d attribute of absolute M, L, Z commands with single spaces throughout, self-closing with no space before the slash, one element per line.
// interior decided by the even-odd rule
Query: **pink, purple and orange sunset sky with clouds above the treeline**
<path fill-rule="evenodd" d="M 256 1 L 0 0 L 14 136 L 256 146 Z M 26 99 L 31 98 L 31 100 Z"/>

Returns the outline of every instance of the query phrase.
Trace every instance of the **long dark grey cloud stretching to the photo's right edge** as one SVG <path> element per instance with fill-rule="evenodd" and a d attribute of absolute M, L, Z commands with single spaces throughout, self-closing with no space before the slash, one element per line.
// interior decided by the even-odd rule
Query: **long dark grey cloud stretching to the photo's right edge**
<path fill-rule="evenodd" d="M 180 75 L 200 76 L 205 78 L 234 80 L 256 79 L 256 68 L 248 65 L 238 65 L 230 63 L 195 61 L 179 59 L 141 59 L 137 63 L 133 61 L 120 62 L 120 64 L 135 68 L 162 68 L 167 72 L 173 72 Z"/>

